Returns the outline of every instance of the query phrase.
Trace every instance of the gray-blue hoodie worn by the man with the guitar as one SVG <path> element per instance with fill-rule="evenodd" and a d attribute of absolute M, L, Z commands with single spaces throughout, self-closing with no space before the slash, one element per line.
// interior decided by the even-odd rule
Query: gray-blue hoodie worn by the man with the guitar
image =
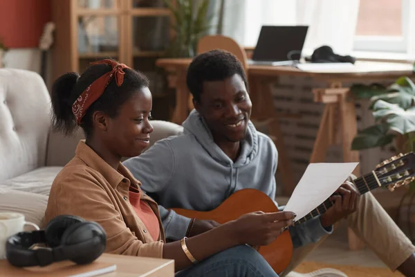
<path fill-rule="evenodd" d="M 142 190 L 159 204 L 166 238 L 185 236 L 190 218 L 168 208 L 210 211 L 232 193 L 255 188 L 275 199 L 278 153 L 268 136 L 248 123 L 241 153 L 232 161 L 216 143 L 196 110 L 183 123 L 184 132 L 155 143 L 149 150 L 124 161 L 142 182 Z M 331 233 L 319 218 L 290 229 L 295 247 L 316 242 Z"/>

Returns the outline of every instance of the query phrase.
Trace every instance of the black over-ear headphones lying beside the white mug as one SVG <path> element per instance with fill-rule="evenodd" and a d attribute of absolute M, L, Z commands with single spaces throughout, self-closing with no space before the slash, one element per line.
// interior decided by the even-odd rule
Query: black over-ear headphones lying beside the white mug
<path fill-rule="evenodd" d="M 48 247 L 30 249 L 33 244 Z M 107 235 L 100 224 L 75 215 L 59 215 L 43 231 L 19 232 L 6 242 L 6 258 L 16 267 L 45 266 L 61 260 L 78 265 L 93 262 L 107 245 Z"/>

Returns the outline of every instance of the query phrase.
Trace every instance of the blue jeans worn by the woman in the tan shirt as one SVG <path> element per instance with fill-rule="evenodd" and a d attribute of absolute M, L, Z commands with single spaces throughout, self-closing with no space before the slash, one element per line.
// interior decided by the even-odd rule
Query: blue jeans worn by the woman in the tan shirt
<path fill-rule="evenodd" d="M 272 267 L 252 247 L 239 245 L 217 253 L 197 265 L 183 269 L 175 277 L 278 277 Z"/>

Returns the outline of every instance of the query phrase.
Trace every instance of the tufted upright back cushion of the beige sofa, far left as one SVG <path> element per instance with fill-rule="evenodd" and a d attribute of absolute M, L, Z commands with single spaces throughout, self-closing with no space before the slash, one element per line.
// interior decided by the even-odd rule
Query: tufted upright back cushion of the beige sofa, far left
<path fill-rule="evenodd" d="M 39 74 L 0 69 L 0 181 L 45 166 L 50 96 Z"/>

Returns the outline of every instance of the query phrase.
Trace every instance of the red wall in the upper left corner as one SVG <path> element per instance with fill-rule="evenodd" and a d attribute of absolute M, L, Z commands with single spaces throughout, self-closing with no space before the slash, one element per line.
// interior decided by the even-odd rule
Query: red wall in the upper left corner
<path fill-rule="evenodd" d="M 8 48 L 39 44 L 44 24 L 50 21 L 50 1 L 0 0 L 0 38 Z"/>

